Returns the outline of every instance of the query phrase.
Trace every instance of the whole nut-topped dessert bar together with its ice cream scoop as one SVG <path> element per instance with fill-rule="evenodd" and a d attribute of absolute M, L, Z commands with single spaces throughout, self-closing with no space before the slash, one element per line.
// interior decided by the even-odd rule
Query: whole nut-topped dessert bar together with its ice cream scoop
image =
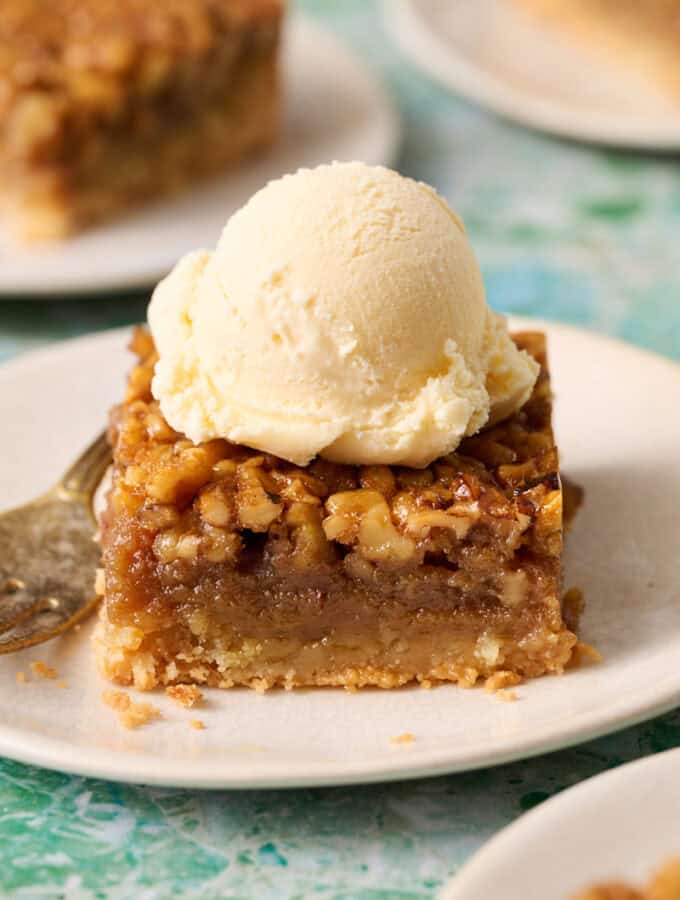
<path fill-rule="evenodd" d="M 272 182 L 159 285 L 149 320 L 111 420 L 107 677 L 391 688 L 564 669 L 545 340 L 489 310 L 431 188 L 359 163 Z"/>

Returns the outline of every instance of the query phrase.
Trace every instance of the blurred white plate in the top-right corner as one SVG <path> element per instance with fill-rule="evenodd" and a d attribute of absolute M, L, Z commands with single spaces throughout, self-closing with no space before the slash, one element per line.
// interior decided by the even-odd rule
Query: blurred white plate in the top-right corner
<path fill-rule="evenodd" d="M 510 0 L 384 0 L 404 51 L 464 97 L 533 128 L 680 148 L 680 104 L 537 24 Z"/>

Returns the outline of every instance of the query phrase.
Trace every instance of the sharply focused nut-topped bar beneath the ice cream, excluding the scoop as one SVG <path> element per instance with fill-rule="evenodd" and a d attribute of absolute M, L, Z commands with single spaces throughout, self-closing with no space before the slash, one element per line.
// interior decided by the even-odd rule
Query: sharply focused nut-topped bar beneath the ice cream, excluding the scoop
<path fill-rule="evenodd" d="M 545 339 L 524 407 L 425 469 L 194 445 L 139 364 L 112 414 L 95 644 L 120 684 L 376 685 L 561 672 L 563 492 Z"/>

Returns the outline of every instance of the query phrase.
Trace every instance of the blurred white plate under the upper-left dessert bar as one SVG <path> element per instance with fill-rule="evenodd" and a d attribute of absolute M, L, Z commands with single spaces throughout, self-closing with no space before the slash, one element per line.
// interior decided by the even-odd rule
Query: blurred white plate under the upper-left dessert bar
<path fill-rule="evenodd" d="M 394 107 L 331 35 L 293 16 L 283 74 L 283 134 L 268 153 L 63 243 L 19 249 L 0 235 L 0 294 L 58 297 L 155 284 L 188 250 L 213 247 L 229 215 L 270 179 L 333 159 L 392 161 L 399 138 Z"/>

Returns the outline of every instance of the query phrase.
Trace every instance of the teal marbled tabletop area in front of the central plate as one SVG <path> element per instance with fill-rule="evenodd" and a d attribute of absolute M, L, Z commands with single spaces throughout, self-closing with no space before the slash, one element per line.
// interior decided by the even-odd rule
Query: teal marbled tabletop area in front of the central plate
<path fill-rule="evenodd" d="M 680 745 L 680 711 L 571 750 L 389 785 L 196 792 L 0 764 L 0 887 L 68 900 L 429 900 L 499 828 Z M 501 897 L 489 900 L 502 900 Z"/>

